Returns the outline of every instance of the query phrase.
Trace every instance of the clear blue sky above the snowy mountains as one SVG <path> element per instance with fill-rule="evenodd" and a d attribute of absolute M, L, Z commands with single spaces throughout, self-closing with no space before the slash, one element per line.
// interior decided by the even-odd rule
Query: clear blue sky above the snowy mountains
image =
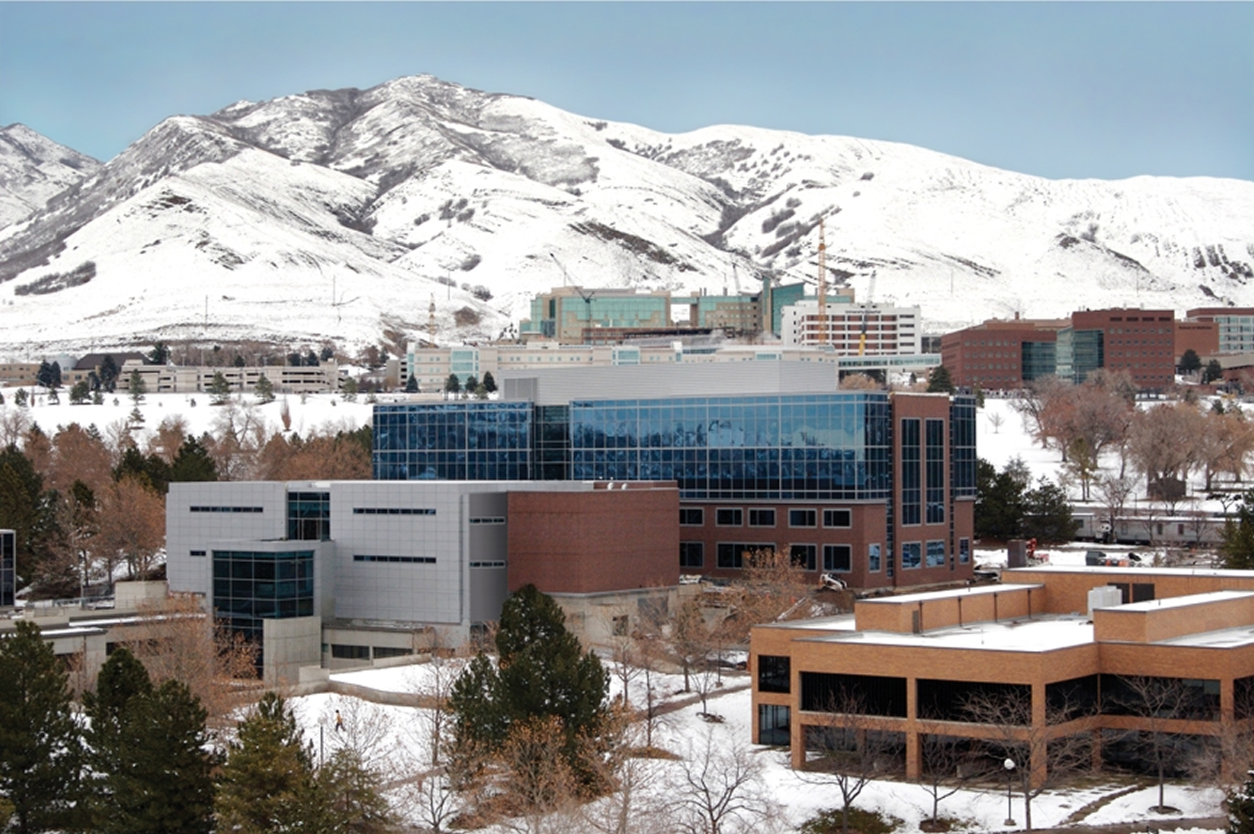
<path fill-rule="evenodd" d="M 1254 180 L 1254 3 L 0 3 L 0 124 L 100 159 L 168 115 L 419 73 L 663 131 Z"/>

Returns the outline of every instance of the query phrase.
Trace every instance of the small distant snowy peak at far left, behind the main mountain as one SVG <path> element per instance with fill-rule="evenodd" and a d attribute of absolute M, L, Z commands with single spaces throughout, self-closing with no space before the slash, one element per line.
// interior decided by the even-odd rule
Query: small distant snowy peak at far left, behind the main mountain
<path fill-rule="evenodd" d="M 0 128 L 0 228 L 36 212 L 100 163 L 24 124 Z"/>

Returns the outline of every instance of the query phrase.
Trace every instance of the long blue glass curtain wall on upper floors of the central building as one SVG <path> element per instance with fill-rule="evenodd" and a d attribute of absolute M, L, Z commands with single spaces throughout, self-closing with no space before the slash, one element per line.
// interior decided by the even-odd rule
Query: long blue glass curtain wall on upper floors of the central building
<path fill-rule="evenodd" d="M 861 501 L 892 490 L 878 392 L 377 406 L 376 480 L 677 481 L 687 500 Z"/>

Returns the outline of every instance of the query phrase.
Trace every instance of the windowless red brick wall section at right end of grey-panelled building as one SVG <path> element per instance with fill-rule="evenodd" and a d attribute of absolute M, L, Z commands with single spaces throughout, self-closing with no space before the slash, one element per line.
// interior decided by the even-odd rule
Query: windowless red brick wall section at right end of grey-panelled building
<path fill-rule="evenodd" d="M 633 485 L 635 487 L 635 485 Z M 509 590 L 549 594 L 680 581 L 675 487 L 509 493 Z"/>

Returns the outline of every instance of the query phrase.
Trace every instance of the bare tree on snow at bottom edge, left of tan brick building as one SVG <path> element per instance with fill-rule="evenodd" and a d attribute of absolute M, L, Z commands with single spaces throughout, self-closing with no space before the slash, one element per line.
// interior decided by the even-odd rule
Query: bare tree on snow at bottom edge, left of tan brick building
<path fill-rule="evenodd" d="M 774 814 L 761 763 L 739 740 L 715 739 L 716 728 L 688 741 L 671 785 L 671 821 L 690 834 L 761 831 Z"/>

